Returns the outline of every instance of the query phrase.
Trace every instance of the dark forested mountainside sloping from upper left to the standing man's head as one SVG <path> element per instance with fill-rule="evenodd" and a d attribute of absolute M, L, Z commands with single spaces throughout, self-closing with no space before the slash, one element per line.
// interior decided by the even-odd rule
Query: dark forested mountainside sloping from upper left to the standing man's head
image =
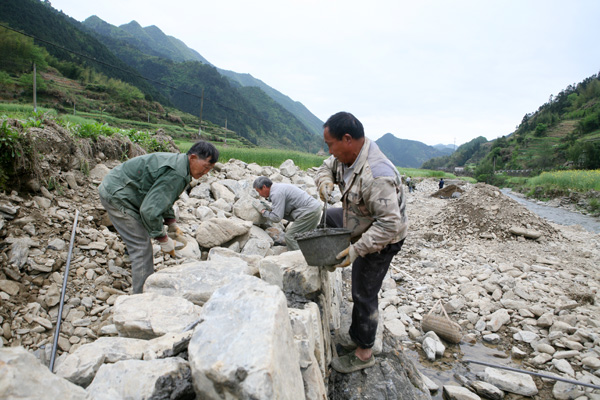
<path fill-rule="evenodd" d="M 97 80 L 97 72 L 101 72 L 108 79 L 130 83 L 139 89 L 146 101 L 155 99 L 164 107 L 175 106 L 186 113 L 201 115 L 203 122 L 226 127 L 256 145 L 314 152 L 321 147 L 320 135 L 310 133 L 302 122 L 264 92 L 240 90 L 209 64 L 177 62 L 158 56 L 157 53 L 167 48 L 171 48 L 173 54 L 177 50 L 184 53 L 187 49 L 182 42 L 166 37 L 158 28 L 142 30 L 148 38 L 153 38 L 154 43 L 163 43 L 153 47 L 153 54 L 146 54 L 132 44 L 136 41 L 132 41 L 131 32 L 115 28 L 129 42 L 113 36 L 92 35 L 78 21 L 54 10 L 49 2 L 4 0 L 0 3 L 0 15 L 0 22 L 39 38 L 36 44 L 47 48 L 56 59 L 51 67 L 64 77 L 77 80 L 86 89 L 90 85 L 98 87 L 94 79 Z M 103 28 L 113 31 L 110 26 Z M 136 31 L 131 24 L 129 29 Z M 58 47 L 50 43 L 56 43 Z M 144 47 L 143 41 L 136 43 Z M 76 52 L 68 51 L 72 49 Z M 4 63 L 10 61 L 5 59 Z M 30 66 L 31 61 L 26 60 L 25 65 Z M 44 71 L 44 66 L 40 65 L 40 71 Z M 44 84 L 43 76 L 40 76 L 40 84 Z M 59 110 L 69 106 L 64 98 L 58 98 L 56 102 Z M 140 118 L 146 115 L 149 118 L 149 110 L 140 111 Z M 132 116 L 135 117 L 135 113 L 129 117 Z"/>

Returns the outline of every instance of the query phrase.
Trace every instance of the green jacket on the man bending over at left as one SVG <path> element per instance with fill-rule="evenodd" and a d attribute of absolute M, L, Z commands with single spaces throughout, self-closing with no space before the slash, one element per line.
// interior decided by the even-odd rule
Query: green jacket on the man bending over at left
<path fill-rule="evenodd" d="M 113 168 L 98 191 L 112 206 L 144 225 L 150 237 L 164 235 L 164 219 L 192 180 L 186 154 L 152 153 Z"/>

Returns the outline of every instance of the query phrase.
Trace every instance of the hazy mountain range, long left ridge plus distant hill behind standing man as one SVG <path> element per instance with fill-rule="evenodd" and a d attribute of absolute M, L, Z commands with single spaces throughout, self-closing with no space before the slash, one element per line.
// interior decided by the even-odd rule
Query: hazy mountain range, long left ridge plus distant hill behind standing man
<path fill-rule="evenodd" d="M 117 27 L 97 16 L 79 22 L 47 0 L 3 0 L 0 16 L 0 22 L 33 36 L 35 44 L 51 56 L 70 63 L 71 67 L 62 64 L 60 70 L 67 78 L 81 82 L 90 76 L 86 71 L 93 69 L 135 86 L 149 101 L 224 126 L 249 143 L 312 153 L 324 149 L 323 122 L 302 103 L 250 74 L 216 67 L 157 26 L 142 27 L 131 21 Z M 72 105 L 59 109 L 68 107 Z M 83 110 L 85 104 L 79 107 Z M 141 111 L 136 118 L 147 114 Z M 419 167 L 428 158 L 447 154 L 391 134 L 377 143 L 403 167 Z"/>

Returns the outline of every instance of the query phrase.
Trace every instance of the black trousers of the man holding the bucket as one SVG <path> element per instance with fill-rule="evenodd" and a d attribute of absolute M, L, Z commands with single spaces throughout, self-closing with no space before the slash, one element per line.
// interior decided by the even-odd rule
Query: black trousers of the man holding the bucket
<path fill-rule="evenodd" d="M 343 226 L 343 210 L 327 210 L 327 225 Z M 350 337 L 359 347 L 370 349 L 375 344 L 379 323 L 378 294 L 383 278 L 394 256 L 402 248 L 404 240 L 388 244 L 377 253 L 357 257 L 352 263 L 352 324 Z"/>

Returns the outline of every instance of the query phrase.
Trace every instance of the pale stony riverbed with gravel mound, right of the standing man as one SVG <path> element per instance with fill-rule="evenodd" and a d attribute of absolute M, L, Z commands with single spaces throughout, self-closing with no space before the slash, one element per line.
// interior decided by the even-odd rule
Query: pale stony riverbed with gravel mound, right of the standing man
<path fill-rule="evenodd" d="M 484 368 L 463 361 L 481 356 L 479 361 L 597 386 L 600 235 L 550 223 L 492 186 L 464 185 L 459 198 L 440 199 L 431 196 L 434 183 L 424 181 L 409 194 L 411 240 L 394 264 L 398 309 L 418 326 L 415 320 L 441 299 L 465 336 L 439 362 L 422 360 L 423 372 L 464 384 Z M 408 347 L 421 350 L 419 343 Z M 600 393 L 533 381 L 536 398 Z"/>

